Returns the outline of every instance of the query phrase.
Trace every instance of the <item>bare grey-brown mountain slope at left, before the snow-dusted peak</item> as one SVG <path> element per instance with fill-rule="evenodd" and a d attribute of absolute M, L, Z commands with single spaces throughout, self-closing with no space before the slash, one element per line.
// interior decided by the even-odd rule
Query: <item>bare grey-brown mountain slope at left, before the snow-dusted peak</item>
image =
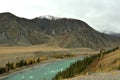
<path fill-rule="evenodd" d="M 0 14 L 0 44 L 31 45 L 49 42 L 50 37 L 40 32 L 30 20 L 11 13 Z"/>

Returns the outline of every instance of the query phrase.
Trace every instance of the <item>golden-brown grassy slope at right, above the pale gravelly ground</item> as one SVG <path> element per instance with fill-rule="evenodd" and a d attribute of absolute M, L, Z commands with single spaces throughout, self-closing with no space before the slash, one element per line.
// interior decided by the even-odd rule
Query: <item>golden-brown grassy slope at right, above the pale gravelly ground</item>
<path fill-rule="evenodd" d="M 96 59 L 83 73 L 117 70 L 120 67 L 120 50 Z"/>

